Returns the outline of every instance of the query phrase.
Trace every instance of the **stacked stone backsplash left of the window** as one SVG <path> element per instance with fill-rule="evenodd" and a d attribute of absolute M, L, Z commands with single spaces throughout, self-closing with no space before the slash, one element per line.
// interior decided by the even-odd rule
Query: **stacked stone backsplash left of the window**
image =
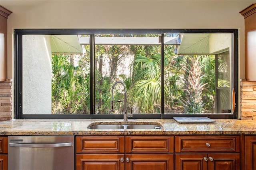
<path fill-rule="evenodd" d="M 12 80 L 0 81 L 0 121 L 12 119 Z"/>

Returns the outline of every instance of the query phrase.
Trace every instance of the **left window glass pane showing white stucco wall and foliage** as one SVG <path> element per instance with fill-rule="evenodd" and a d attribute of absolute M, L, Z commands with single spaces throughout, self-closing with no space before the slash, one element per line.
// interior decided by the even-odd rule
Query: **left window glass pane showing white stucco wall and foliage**
<path fill-rule="evenodd" d="M 90 113 L 89 37 L 23 35 L 23 114 Z"/>

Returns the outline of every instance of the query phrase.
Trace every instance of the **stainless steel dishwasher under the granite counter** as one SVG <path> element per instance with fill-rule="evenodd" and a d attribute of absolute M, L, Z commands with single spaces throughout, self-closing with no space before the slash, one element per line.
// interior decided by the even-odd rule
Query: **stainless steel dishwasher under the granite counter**
<path fill-rule="evenodd" d="M 8 170 L 74 170 L 74 136 L 8 136 Z"/>

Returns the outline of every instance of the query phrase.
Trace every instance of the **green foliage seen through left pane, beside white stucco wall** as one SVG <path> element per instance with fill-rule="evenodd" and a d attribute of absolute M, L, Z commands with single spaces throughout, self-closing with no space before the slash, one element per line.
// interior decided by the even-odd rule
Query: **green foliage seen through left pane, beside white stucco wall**
<path fill-rule="evenodd" d="M 90 74 L 79 65 L 70 64 L 70 55 L 52 55 L 52 114 L 86 114 L 90 112 Z"/>

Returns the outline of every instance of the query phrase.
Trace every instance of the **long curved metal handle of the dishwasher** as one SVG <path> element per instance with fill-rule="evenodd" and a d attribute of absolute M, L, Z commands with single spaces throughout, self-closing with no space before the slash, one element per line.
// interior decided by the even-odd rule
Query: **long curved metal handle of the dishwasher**
<path fill-rule="evenodd" d="M 47 147 L 65 147 L 73 146 L 72 142 L 69 143 L 46 143 L 46 144 L 32 144 L 32 143 L 9 143 L 12 147 L 27 147 L 27 148 L 47 148 Z"/>

